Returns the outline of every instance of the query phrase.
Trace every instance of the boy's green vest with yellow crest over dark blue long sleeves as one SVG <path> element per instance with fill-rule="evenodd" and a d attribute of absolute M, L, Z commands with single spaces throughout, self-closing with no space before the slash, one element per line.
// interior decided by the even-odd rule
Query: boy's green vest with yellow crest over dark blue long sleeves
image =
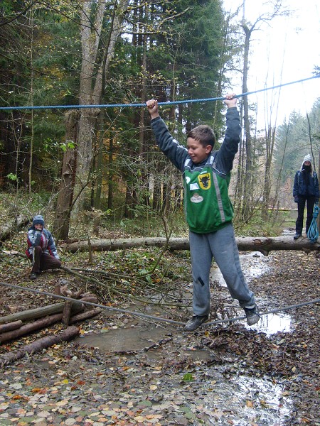
<path fill-rule="evenodd" d="M 196 164 L 188 155 L 187 148 L 171 136 L 160 117 L 151 120 L 159 148 L 183 173 L 186 220 L 190 230 L 198 234 L 217 231 L 233 219 L 228 186 L 241 133 L 236 107 L 228 109 L 226 124 L 220 149 L 211 152 L 203 163 Z"/>

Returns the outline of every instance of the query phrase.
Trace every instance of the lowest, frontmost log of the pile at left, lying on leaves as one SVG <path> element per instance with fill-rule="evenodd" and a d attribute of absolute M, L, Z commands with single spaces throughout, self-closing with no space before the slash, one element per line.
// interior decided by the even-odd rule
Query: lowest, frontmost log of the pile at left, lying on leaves
<path fill-rule="evenodd" d="M 0 356 L 0 366 L 5 366 L 11 362 L 17 361 L 18 359 L 23 358 L 26 354 L 35 354 L 42 349 L 46 349 L 54 344 L 60 344 L 61 342 L 68 342 L 71 339 L 74 339 L 79 334 L 78 327 L 71 325 L 70 327 L 63 330 L 59 334 L 53 336 L 42 337 L 41 339 L 32 342 L 31 344 L 26 344 L 16 351 L 8 352 Z"/>

